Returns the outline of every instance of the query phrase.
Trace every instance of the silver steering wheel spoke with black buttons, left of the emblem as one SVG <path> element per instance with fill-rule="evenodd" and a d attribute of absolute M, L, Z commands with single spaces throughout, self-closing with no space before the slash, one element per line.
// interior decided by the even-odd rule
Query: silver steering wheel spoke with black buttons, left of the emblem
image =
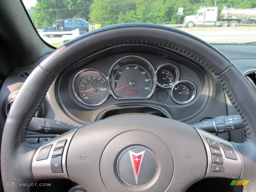
<path fill-rule="evenodd" d="M 35 179 L 65 178 L 67 173 L 68 146 L 77 129 L 44 142 L 36 151 L 32 172 Z"/>

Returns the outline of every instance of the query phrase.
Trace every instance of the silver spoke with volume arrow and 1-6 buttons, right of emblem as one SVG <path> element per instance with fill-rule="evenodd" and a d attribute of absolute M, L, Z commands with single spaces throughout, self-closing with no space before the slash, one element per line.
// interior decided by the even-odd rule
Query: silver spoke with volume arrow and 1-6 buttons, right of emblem
<path fill-rule="evenodd" d="M 196 131 L 206 149 L 208 164 L 205 177 L 239 178 L 242 160 L 233 144 L 201 129 Z"/>

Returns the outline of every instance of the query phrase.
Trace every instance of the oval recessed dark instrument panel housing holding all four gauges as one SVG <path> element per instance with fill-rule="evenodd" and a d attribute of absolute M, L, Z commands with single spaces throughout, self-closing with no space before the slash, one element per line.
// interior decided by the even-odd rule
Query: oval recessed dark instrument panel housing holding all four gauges
<path fill-rule="evenodd" d="M 210 91 L 204 69 L 145 45 L 114 47 L 86 58 L 56 85 L 63 111 L 82 123 L 142 108 L 186 120 L 205 106 Z"/>

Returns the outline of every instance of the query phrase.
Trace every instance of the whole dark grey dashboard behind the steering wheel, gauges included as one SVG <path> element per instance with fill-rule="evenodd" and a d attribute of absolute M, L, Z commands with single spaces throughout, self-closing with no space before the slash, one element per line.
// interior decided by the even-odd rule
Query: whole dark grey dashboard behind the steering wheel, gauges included
<path fill-rule="evenodd" d="M 254 45 L 214 46 L 242 73 L 256 71 Z M 0 91 L 1 126 L 23 82 L 45 57 L 32 65 L 15 68 L 4 81 Z M 93 92 L 90 89 L 94 87 Z M 185 94 L 180 95 L 183 91 Z M 92 94 L 95 96 L 90 96 Z M 126 113 L 153 114 L 188 124 L 237 114 L 221 83 L 207 69 L 156 47 L 123 45 L 82 59 L 61 73 L 50 86 L 37 115 L 80 126 Z M 53 136 L 36 135 L 37 138 Z M 246 139 L 243 130 L 219 136 L 234 142 Z M 28 132 L 27 137 L 35 137 L 35 133 Z"/>

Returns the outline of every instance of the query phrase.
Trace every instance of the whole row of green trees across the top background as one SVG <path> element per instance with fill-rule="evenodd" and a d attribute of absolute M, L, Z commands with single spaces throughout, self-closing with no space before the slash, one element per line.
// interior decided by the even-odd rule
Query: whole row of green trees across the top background
<path fill-rule="evenodd" d="M 214 5 L 215 0 L 37 0 L 30 15 L 38 29 L 66 18 L 82 18 L 103 26 L 128 22 L 177 24 L 179 18 L 183 23 L 186 15 L 194 15 L 201 6 Z M 217 0 L 219 13 L 224 5 L 253 8 L 256 2 Z M 178 7 L 184 8 L 184 15 L 177 15 Z"/>

